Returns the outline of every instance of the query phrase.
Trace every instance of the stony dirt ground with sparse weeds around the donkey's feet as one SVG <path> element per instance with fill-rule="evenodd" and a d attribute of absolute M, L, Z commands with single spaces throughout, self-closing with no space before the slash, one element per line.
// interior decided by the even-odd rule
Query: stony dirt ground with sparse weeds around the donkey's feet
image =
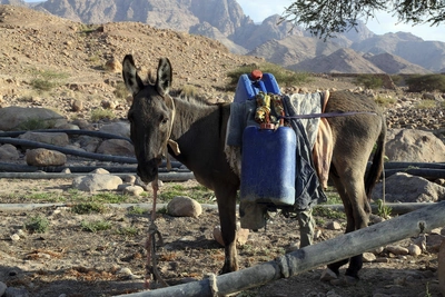
<path fill-rule="evenodd" d="M 192 187 L 196 181 L 186 185 Z M 69 187 L 70 180 L 1 179 L 0 196 L 4 200 L 4 189 L 8 189 L 14 192 L 8 196 L 10 204 L 23 202 L 30 194 L 60 192 Z M 139 198 L 139 202 L 150 204 L 151 198 Z M 78 215 L 72 207 L 65 202 L 36 209 L 0 208 L 0 280 L 36 297 L 116 296 L 142 291 L 149 212 L 108 208 L 102 214 Z M 49 229 L 31 234 L 23 226 L 38 216 L 48 219 Z M 343 234 L 343 229 L 326 228 L 334 219 L 316 219 L 319 230 L 316 242 Z M 335 220 L 344 226 L 343 219 Z M 107 221 L 110 227 L 87 231 L 82 227 L 86 221 Z M 210 208 L 205 208 L 198 218 L 170 217 L 158 211 L 156 225 L 164 238 L 164 246 L 157 251 L 158 266 L 170 286 L 218 273 L 224 261 L 224 248 L 212 237 L 218 224 L 217 210 Z M 298 237 L 298 224 L 294 219 L 276 216 L 267 230 L 250 232 L 247 242 L 238 247 L 240 268 L 273 260 L 297 242 Z M 411 239 L 405 241 L 399 245 L 407 245 Z M 442 296 L 437 254 L 397 257 L 382 253 L 376 256 L 376 261 L 364 264 L 360 280 L 354 286 L 320 281 L 325 267 L 317 267 L 236 296 Z"/>

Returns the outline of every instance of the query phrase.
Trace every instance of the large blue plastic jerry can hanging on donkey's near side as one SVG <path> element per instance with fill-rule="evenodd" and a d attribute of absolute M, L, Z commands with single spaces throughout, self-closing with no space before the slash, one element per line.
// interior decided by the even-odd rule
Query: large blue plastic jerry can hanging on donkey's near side
<path fill-rule="evenodd" d="M 293 206 L 296 146 L 295 132 L 289 127 L 247 127 L 243 133 L 240 199 Z"/>

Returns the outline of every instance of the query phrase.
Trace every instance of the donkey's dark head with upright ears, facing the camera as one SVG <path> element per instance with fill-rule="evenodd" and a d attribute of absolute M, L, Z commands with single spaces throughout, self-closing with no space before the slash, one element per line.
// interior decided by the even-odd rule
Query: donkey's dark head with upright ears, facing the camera
<path fill-rule="evenodd" d="M 152 181 L 171 132 L 174 101 L 168 95 L 171 86 L 171 65 L 161 58 L 155 85 L 145 85 L 140 79 L 135 60 L 127 55 L 122 62 L 122 76 L 134 100 L 128 119 L 131 125 L 131 141 L 138 159 L 138 175 L 145 181 Z"/>

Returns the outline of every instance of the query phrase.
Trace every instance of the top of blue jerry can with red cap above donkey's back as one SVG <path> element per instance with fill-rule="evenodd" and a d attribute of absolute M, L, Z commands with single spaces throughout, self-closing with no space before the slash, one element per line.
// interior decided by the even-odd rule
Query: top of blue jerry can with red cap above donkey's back
<path fill-rule="evenodd" d="M 259 70 L 251 71 L 250 75 L 241 75 L 238 79 L 238 85 L 235 90 L 234 102 L 245 102 L 246 100 L 255 99 L 255 96 L 260 91 L 265 93 L 279 95 L 280 90 L 271 73 L 263 73 Z"/>

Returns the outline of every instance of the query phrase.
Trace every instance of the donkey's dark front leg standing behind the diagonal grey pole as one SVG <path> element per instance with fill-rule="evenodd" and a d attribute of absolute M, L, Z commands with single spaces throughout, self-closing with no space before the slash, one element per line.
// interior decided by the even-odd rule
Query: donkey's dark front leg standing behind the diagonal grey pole
<path fill-rule="evenodd" d="M 238 270 L 236 250 L 236 191 L 237 189 L 215 190 L 218 201 L 219 222 L 225 244 L 225 259 L 219 274 L 227 274 Z"/>

